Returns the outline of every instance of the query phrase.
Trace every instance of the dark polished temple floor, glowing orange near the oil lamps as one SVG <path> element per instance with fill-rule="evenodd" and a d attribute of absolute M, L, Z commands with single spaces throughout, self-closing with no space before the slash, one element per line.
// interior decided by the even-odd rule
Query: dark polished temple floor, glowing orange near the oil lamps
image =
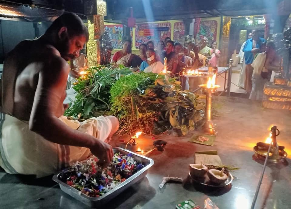
<path fill-rule="evenodd" d="M 290 111 L 269 110 L 260 103 L 242 98 L 215 98 L 220 106 L 219 116 L 213 118 L 218 125 L 218 135 L 214 146 L 188 142 L 192 136 L 174 137 L 158 135 L 156 139 L 166 140 L 163 152 L 154 150 L 147 157 L 155 164 L 144 179 L 112 199 L 106 208 L 174 208 L 184 200 L 194 200 L 203 208 L 204 200 L 209 197 L 220 209 L 250 208 L 263 168 L 263 162 L 253 159 L 253 146 L 264 142 L 269 135 L 270 125 L 280 130 L 277 142 L 285 146 L 291 155 Z M 127 140 L 129 137 L 122 137 Z M 135 151 L 153 148 L 154 140 L 142 135 L 137 146 L 128 146 Z M 125 147 L 116 136 L 114 146 Z M 225 165 L 235 165 L 240 169 L 232 172 L 231 185 L 222 188 L 207 188 L 192 183 L 188 176 L 189 163 L 195 162 L 195 151 L 218 150 Z M 284 163 L 270 164 L 266 167 L 256 207 L 290 208 L 291 168 L 290 158 Z M 166 183 L 159 189 L 164 176 L 182 177 L 184 183 Z M 31 176 L 6 174 L 0 169 L 0 208 L 89 208 L 62 192 L 52 176 L 33 179 Z M 105 207 L 105 206 L 104 206 Z"/>

